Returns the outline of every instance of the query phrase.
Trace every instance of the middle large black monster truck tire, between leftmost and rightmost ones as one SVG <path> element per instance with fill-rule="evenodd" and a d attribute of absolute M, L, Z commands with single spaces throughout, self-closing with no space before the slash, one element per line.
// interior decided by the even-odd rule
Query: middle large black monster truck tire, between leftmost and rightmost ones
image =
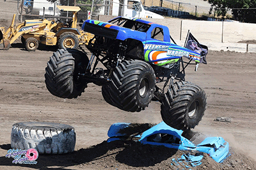
<path fill-rule="evenodd" d="M 153 97 L 155 72 L 146 62 L 123 61 L 113 71 L 111 83 L 103 89 L 107 90 L 105 94 L 110 97 L 106 100 L 108 103 L 113 102 L 113 106 L 128 112 L 140 112 L 148 106 Z"/>

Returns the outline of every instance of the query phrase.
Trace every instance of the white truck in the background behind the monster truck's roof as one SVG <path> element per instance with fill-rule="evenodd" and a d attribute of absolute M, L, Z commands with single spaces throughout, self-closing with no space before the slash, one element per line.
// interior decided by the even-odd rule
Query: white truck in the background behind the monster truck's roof
<path fill-rule="evenodd" d="M 111 2 L 107 1 L 107 3 L 113 3 L 113 5 L 105 6 L 104 8 L 102 8 L 100 11 L 100 15 L 164 19 L 162 15 L 156 14 L 151 11 L 146 11 L 143 8 L 140 0 L 124 0 L 124 4 L 120 4 L 119 0 L 113 0 Z M 109 11 L 112 11 L 112 14 L 110 14 Z"/>

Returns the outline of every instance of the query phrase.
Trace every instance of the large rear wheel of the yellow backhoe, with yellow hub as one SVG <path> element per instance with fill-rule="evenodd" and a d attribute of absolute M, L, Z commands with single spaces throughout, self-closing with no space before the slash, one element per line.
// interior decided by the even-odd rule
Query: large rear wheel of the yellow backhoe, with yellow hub
<path fill-rule="evenodd" d="M 78 48 L 79 40 L 73 32 L 64 32 L 60 35 L 58 46 L 59 48 Z"/>

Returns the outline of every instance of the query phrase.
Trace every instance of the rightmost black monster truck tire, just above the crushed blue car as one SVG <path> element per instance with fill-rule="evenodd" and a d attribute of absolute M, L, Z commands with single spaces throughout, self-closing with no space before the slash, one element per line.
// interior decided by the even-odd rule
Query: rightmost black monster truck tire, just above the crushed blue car
<path fill-rule="evenodd" d="M 206 94 L 199 86 L 177 81 L 165 93 L 161 116 L 167 125 L 178 130 L 194 128 L 206 110 Z"/>

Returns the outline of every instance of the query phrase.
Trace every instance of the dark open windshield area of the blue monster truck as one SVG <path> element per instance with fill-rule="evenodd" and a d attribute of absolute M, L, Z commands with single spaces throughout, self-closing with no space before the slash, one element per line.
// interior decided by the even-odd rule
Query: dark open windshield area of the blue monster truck
<path fill-rule="evenodd" d="M 120 27 L 130 28 L 132 30 L 141 31 L 141 32 L 146 32 L 148 31 L 149 27 L 151 27 L 151 25 L 149 24 L 133 21 L 126 18 L 116 18 L 108 22 L 110 22 L 111 24 L 118 25 Z"/>

